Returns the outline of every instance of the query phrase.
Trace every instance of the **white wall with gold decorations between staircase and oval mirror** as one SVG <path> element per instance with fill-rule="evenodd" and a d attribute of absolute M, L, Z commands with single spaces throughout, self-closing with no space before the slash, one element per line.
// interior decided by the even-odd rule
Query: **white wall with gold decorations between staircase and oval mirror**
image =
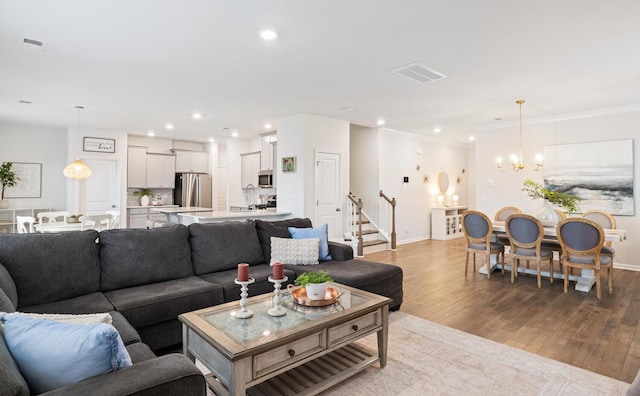
<path fill-rule="evenodd" d="M 431 208 L 436 206 L 438 174 L 449 175 L 451 195 L 460 197 L 459 205 L 468 204 L 468 146 L 435 141 L 427 137 L 382 129 L 380 133 L 380 188 L 396 198 L 396 233 L 398 243 L 431 237 Z M 418 169 L 419 167 L 419 169 Z M 403 177 L 409 183 L 403 183 Z M 428 177 L 428 181 L 424 178 Z"/>

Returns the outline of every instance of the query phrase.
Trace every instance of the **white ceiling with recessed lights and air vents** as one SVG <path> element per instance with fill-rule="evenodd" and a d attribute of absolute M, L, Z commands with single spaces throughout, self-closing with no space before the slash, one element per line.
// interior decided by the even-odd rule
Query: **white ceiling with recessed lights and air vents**
<path fill-rule="evenodd" d="M 639 104 L 638 43 L 638 0 L 0 0 L 0 122 L 204 141 L 312 113 L 467 142 L 516 99 Z M 447 78 L 390 72 L 413 62 Z"/>

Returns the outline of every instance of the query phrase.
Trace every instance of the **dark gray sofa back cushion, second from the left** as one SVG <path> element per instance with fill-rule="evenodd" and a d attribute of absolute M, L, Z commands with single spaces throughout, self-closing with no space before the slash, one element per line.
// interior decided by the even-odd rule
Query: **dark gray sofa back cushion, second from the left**
<path fill-rule="evenodd" d="M 182 225 L 102 231 L 100 261 L 103 291 L 193 275 L 189 231 Z"/>

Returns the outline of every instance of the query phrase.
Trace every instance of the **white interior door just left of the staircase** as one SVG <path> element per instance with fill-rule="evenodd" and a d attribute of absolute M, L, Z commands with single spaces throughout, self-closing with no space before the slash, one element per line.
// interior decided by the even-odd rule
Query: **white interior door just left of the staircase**
<path fill-rule="evenodd" d="M 316 219 L 314 225 L 329 225 L 329 238 L 342 235 L 340 154 L 316 153 Z"/>

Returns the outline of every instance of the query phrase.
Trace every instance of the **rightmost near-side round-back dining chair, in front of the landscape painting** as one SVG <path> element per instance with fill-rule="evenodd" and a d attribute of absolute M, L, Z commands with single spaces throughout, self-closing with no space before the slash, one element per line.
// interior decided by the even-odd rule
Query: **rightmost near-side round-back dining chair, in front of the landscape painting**
<path fill-rule="evenodd" d="M 557 225 L 558 240 L 562 246 L 564 267 L 564 292 L 569 289 L 569 268 L 593 270 L 596 278 L 596 295 L 602 299 L 600 272 L 607 270 L 609 294 L 613 293 L 613 259 L 601 254 L 604 246 L 604 230 L 593 220 L 570 217 Z"/>

